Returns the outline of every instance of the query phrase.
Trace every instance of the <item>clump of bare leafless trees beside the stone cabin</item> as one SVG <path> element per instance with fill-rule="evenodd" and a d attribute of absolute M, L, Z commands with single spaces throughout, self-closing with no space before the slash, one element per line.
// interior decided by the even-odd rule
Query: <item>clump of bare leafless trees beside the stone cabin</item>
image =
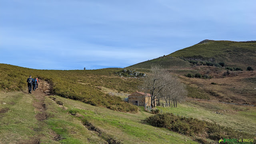
<path fill-rule="evenodd" d="M 156 99 L 158 104 L 160 99 L 164 99 L 166 102 L 169 100 L 169 105 L 173 103 L 174 107 L 177 107 L 177 101 L 182 101 L 186 97 L 185 84 L 159 65 L 151 66 L 150 74 L 144 78 L 142 89 L 150 94 L 152 107 L 156 106 Z"/>

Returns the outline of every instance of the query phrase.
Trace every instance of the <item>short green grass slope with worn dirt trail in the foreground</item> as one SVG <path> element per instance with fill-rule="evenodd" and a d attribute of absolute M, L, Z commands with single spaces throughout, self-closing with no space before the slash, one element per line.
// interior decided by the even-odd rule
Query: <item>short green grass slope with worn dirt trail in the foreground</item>
<path fill-rule="evenodd" d="M 47 117 L 37 120 L 37 101 L 34 94 L 0 92 L 1 144 L 196 144 L 188 136 L 143 123 L 152 115 L 143 110 L 122 113 L 60 96 L 45 96 Z"/>

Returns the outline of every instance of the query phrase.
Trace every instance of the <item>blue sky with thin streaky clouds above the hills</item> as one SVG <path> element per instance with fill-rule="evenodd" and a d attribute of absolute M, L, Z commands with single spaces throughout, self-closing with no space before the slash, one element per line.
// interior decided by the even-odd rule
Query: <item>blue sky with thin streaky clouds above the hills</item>
<path fill-rule="evenodd" d="M 0 63 L 119 67 L 210 40 L 256 40 L 255 0 L 0 0 Z"/>

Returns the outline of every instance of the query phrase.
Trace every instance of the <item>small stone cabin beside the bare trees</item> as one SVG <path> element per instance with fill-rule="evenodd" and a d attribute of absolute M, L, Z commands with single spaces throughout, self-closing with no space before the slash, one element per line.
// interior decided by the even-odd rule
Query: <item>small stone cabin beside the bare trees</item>
<path fill-rule="evenodd" d="M 136 106 L 147 106 L 151 105 L 150 94 L 145 94 L 143 92 L 134 92 L 128 96 L 128 103 Z"/>

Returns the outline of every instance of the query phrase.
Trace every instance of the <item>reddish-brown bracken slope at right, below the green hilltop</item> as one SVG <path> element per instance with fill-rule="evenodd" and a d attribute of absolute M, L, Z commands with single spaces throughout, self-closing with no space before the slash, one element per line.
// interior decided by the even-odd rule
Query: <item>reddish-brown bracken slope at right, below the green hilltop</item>
<path fill-rule="evenodd" d="M 224 69 L 198 66 L 191 69 L 191 73 L 199 72 L 204 74 L 207 70 L 210 70 L 209 76 L 212 76 L 210 79 L 180 76 L 187 88 L 191 87 L 192 91 L 190 91 L 189 95 L 197 95 L 198 90 L 202 90 L 206 94 L 204 98 L 209 97 L 210 100 L 236 104 L 256 104 L 256 89 L 254 89 L 256 88 L 256 83 L 254 83 L 256 71 L 240 71 L 234 76 L 232 74 L 232 76 L 222 76 L 222 72 L 226 71 Z M 217 74 L 214 73 L 214 70 L 221 70 L 221 72 Z M 193 89 L 197 90 L 193 91 Z"/>

